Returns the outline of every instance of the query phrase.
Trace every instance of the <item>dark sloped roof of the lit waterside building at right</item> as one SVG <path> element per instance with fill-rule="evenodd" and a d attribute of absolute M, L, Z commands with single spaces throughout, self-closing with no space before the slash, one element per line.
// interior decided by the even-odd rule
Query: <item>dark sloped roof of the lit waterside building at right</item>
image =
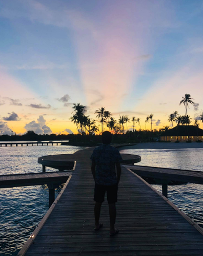
<path fill-rule="evenodd" d="M 203 136 L 203 130 L 194 125 L 177 125 L 160 136 Z"/>

